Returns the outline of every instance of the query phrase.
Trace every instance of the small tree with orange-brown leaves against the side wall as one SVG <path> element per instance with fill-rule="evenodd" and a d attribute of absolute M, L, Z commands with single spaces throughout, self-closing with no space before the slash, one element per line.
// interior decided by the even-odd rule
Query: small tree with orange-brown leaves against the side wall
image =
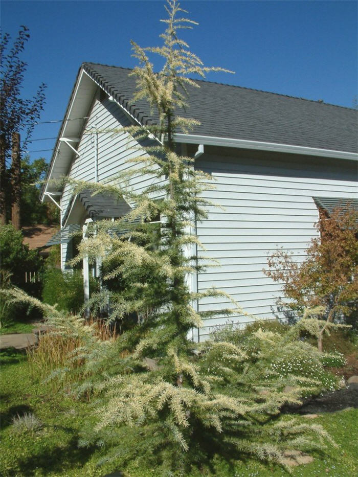
<path fill-rule="evenodd" d="M 358 302 L 358 214 L 352 208 L 335 209 L 329 217 L 323 210 L 316 224 L 319 237 L 312 239 L 302 263 L 293 253 L 279 249 L 267 263 L 265 275 L 283 282 L 288 299 L 284 307 L 302 315 L 304 309 L 316 310 L 319 318 L 310 322 L 322 351 L 322 337 L 334 323 L 357 326 Z"/>

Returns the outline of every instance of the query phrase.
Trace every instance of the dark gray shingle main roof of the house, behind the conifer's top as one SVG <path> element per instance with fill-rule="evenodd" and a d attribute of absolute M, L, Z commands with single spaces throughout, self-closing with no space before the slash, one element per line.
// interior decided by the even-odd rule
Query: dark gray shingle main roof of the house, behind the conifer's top
<path fill-rule="evenodd" d="M 84 70 L 142 124 L 155 122 L 146 101 L 132 101 L 135 78 L 118 66 L 83 63 Z M 240 86 L 197 81 L 181 116 L 200 122 L 191 134 L 358 152 L 358 111 Z"/>

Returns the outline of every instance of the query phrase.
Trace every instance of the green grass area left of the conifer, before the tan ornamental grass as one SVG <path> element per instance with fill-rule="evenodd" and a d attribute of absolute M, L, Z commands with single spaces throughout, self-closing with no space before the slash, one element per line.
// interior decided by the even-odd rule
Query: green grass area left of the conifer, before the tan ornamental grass
<path fill-rule="evenodd" d="M 26 355 L 1 352 L 2 439 L 0 475 L 104 475 L 97 449 L 78 449 L 80 429 L 91 422 L 88 404 L 73 401 L 31 378 Z M 32 413 L 42 423 L 31 434 L 16 435 L 12 420 Z"/>

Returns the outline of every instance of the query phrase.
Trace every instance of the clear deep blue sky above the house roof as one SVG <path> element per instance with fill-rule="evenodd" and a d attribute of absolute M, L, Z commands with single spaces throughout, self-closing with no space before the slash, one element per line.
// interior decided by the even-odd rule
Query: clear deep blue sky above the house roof
<path fill-rule="evenodd" d="M 12 38 L 20 25 L 31 38 L 24 97 L 44 82 L 41 121 L 62 119 L 83 61 L 132 67 L 130 39 L 155 46 L 163 30 L 163 0 L 2 0 L 1 27 Z M 235 75 L 207 79 L 352 107 L 357 95 L 356 1 L 182 1 L 199 22 L 183 37 L 208 66 Z M 51 149 L 60 123 L 35 127 L 30 151 Z M 31 152 L 31 158 L 51 151 Z"/>

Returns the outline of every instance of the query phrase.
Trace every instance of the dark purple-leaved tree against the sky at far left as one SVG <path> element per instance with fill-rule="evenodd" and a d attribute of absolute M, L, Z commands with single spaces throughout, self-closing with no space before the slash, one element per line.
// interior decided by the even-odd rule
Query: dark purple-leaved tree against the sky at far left
<path fill-rule="evenodd" d="M 18 171 L 11 171 L 10 167 L 7 167 L 12 134 L 21 133 L 23 135 L 21 146 L 25 149 L 35 122 L 40 117 L 45 98 L 44 89 L 46 85 L 44 83 L 41 83 L 38 87 L 33 98 L 21 98 L 21 87 L 27 63 L 20 59 L 20 54 L 24 51 L 25 43 L 29 37 L 29 29 L 21 26 L 18 36 L 7 54 L 10 35 L 5 33 L 0 41 L 0 221 L 2 224 L 7 222 L 7 202 L 10 202 L 5 184 L 9 181 L 10 172 L 12 172 L 12 175 L 19 175 Z"/>

